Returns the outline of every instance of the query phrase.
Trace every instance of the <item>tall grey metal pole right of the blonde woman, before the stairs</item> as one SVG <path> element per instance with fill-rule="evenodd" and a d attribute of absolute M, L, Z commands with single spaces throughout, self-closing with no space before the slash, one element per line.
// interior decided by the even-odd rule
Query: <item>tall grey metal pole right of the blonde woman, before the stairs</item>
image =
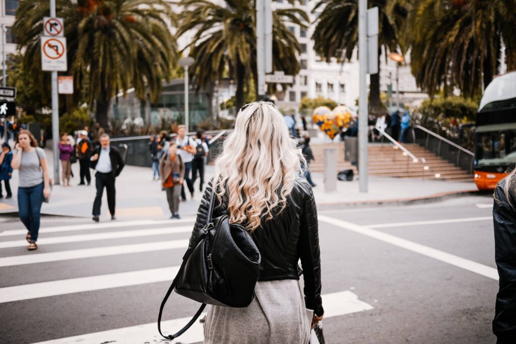
<path fill-rule="evenodd" d="M 359 128 L 358 128 L 358 148 L 359 148 L 359 190 L 367 192 L 367 0 L 359 0 Z"/>

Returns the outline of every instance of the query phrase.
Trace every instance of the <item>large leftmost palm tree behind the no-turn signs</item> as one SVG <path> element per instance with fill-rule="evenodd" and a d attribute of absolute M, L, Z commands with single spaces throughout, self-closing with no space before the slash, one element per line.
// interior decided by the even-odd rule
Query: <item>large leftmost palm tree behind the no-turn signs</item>
<path fill-rule="evenodd" d="M 41 72 L 39 40 L 41 19 L 49 13 L 47 0 L 23 1 L 14 23 L 19 48 L 25 50 L 25 68 L 36 85 L 49 77 Z M 175 58 L 175 40 L 166 22 L 173 15 L 166 2 L 57 0 L 56 16 L 65 21 L 68 73 L 76 88 L 88 80 L 101 126 L 107 127 L 110 101 L 117 92 L 134 87 L 140 99 L 147 91 L 151 99 L 157 98 Z"/>

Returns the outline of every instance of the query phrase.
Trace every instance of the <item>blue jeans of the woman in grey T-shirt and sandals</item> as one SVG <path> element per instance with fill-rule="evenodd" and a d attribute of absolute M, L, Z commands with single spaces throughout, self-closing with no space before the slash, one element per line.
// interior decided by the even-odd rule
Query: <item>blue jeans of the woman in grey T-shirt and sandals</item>
<path fill-rule="evenodd" d="M 43 188 L 44 183 L 18 188 L 18 216 L 30 232 L 30 241 L 34 242 L 38 240 Z"/>

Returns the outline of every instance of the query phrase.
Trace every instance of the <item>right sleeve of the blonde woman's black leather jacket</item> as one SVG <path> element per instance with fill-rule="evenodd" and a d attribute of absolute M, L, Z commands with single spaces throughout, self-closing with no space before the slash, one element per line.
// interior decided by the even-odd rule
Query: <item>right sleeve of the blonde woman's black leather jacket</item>
<path fill-rule="evenodd" d="M 298 252 L 304 278 L 304 303 L 318 316 L 324 314 L 321 299 L 321 265 L 317 208 L 312 188 L 303 181 L 306 191 L 300 219 Z"/>

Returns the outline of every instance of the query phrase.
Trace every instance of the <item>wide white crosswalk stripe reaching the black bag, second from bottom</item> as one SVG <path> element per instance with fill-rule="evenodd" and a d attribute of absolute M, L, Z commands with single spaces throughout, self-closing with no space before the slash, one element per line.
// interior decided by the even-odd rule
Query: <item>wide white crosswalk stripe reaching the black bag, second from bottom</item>
<path fill-rule="evenodd" d="M 0 303 L 155 282 L 171 282 L 178 271 L 179 266 L 174 266 L 5 287 L 0 288 Z"/>

